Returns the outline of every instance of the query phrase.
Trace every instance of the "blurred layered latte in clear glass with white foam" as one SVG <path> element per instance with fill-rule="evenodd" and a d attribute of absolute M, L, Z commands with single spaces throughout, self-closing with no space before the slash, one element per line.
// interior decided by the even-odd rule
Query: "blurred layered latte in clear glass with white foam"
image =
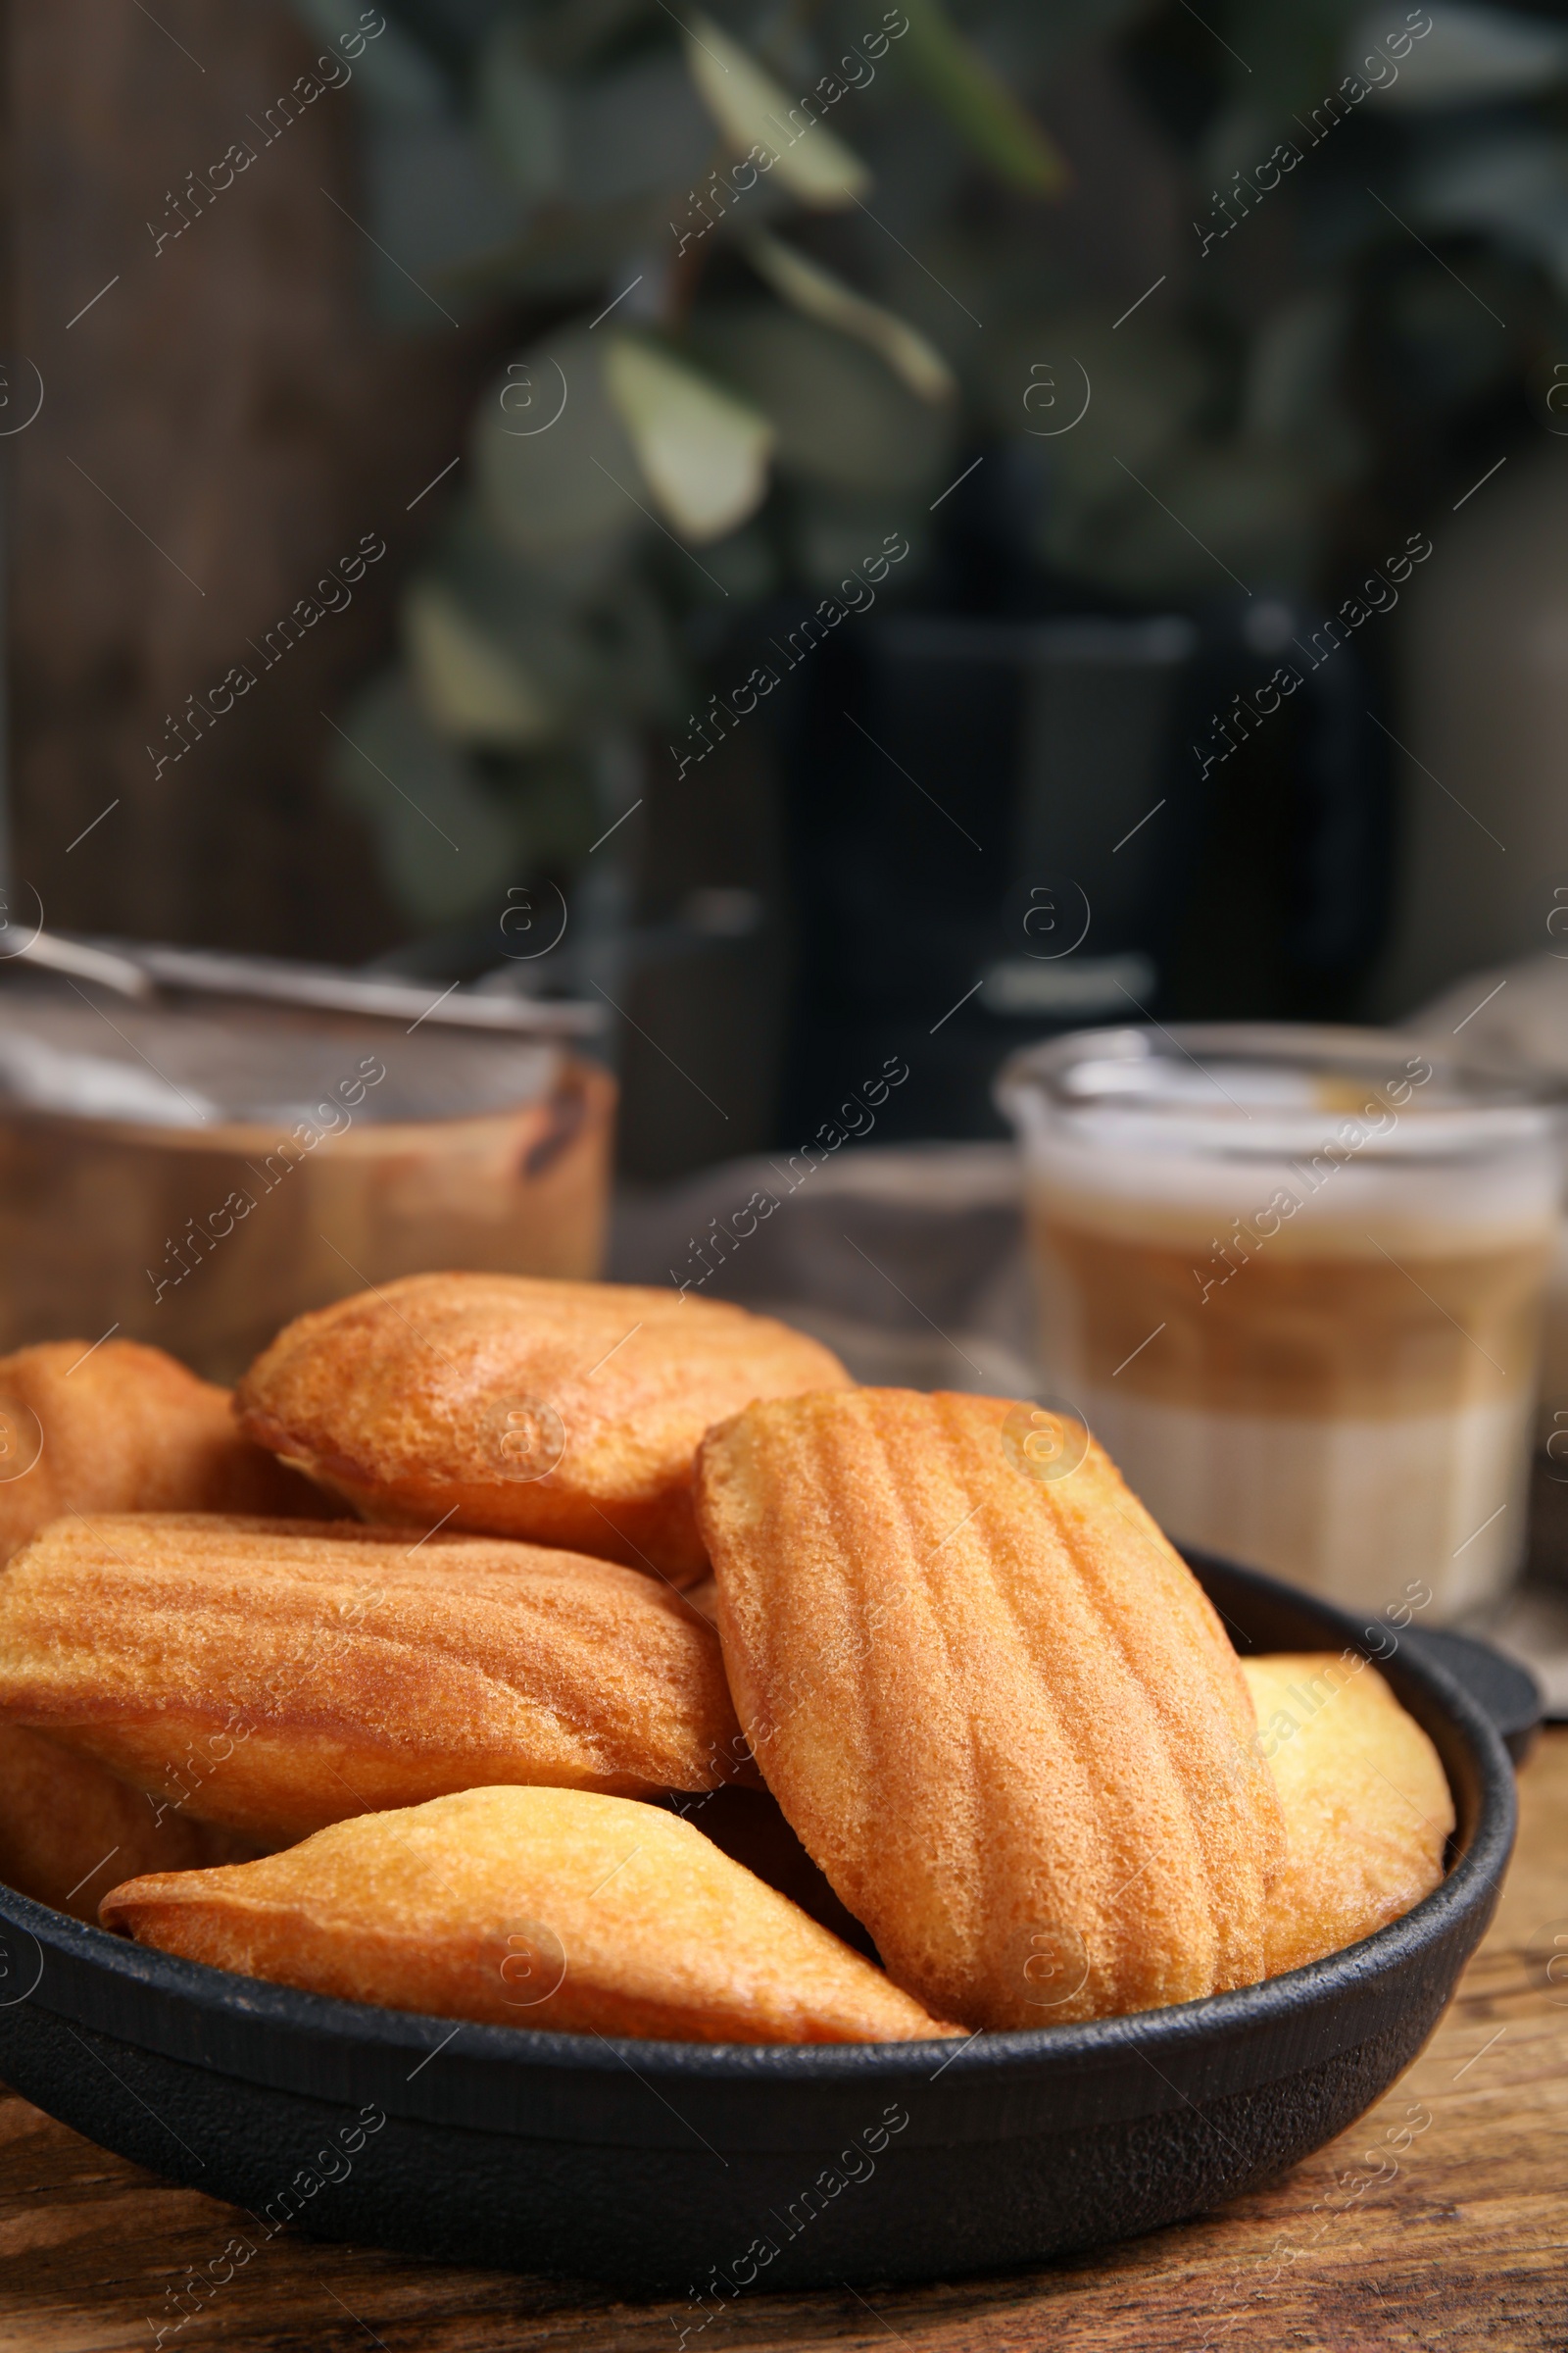
<path fill-rule="evenodd" d="M 1429 1624 L 1526 1539 L 1563 1184 L 1552 1089 L 1382 1031 L 1084 1031 L 1016 1054 L 1044 1402 L 1175 1541 Z"/>

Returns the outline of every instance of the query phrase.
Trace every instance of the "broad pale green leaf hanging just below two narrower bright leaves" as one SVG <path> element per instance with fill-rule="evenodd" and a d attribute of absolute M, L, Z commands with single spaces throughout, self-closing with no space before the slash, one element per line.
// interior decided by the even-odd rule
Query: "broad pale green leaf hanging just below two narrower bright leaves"
<path fill-rule="evenodd" d="M 773 426 L 750 402 L 635 334 L 607 336 L 604 386 L 677 532 L 722 539 L 762 506 Z"/>

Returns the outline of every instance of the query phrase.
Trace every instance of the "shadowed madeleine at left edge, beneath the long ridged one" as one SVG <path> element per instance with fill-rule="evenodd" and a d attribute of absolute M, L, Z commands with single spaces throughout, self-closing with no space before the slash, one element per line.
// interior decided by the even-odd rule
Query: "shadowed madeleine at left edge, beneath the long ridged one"
<path fill-rule="evenodd" d="M 0 1722 L 0 1880 L 35 1904 L 96 1920 L 99 1897 L 125 1871 L 200 1871 L 254 1852 L 92 1758 Z"/>

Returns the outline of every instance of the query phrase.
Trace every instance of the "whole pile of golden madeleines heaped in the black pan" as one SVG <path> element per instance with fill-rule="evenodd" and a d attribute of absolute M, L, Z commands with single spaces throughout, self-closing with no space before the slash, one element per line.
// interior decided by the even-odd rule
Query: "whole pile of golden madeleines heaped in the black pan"
<path fill-rule="evenodd" d="M 1074 1424 L 1041 1468 L 1011 1400 L 517 1275 L 301 1315 L 233 1400 L 85 1346 L 0 1360 L 0 1875 L 141 1944 L 891 2042 L 1248 1986 L 1441 1880 L 1378 1671 L 1241 1661 Z"/>

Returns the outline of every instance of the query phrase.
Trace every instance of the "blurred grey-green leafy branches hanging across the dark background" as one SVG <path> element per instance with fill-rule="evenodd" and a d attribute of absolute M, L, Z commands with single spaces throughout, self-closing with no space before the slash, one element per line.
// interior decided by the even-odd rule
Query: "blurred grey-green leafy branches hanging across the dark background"
<path fill-rule="evenodd" d="M 1389 438 L 1563 329 L 1544 16 L 383 5 L 357 73 L 381 311 L 545 322 L 473 419 L 402 664 L 348 720 L 376 765 L 343 751 L 341 786 L 421 920 L 468 911 L 477 861 L 454 873 L 381 769 L 442 831 L 569 868 L 618 814 L 607 744 L 701 701 L 703 614 L 823 595 L 886 532 L 914 551 L 900 593 L 922 569 L 940 593 L 959 508 L 1058 595 L 1194 602 L 1215 567 L 1309 593 Z"/>

